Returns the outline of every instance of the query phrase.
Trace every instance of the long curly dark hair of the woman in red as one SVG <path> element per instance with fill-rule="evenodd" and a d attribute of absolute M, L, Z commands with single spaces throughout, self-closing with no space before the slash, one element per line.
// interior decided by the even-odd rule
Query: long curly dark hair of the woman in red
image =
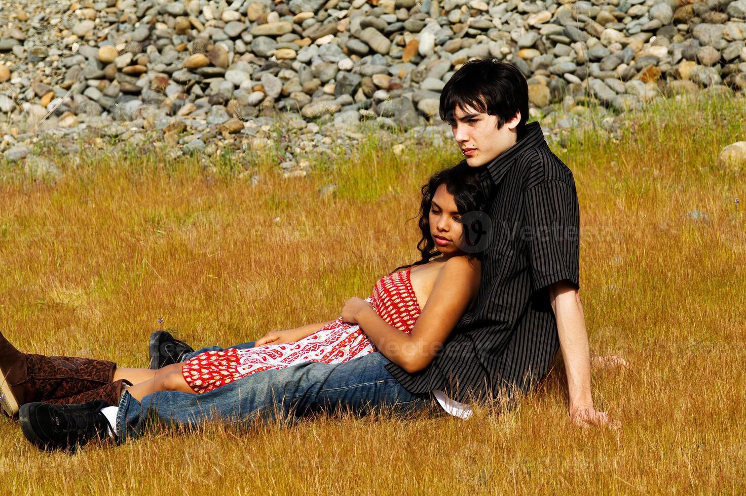
<path fill-rule="evenodd" d="M 442 184 L 445 184 L 445 189 L 449 194 L 453 195 L 454 202 L 460 214 L 484 210 L 486 199 L 480 185 L 480 168 L 469 167 L 466 160 L 462 160 L 457 165 L 438 171 L 430 176 L 421 188 L 422 201 L 420 202 L 418 225 L 422 232 L 422 238 L 420 238 L 417 244 L 417 249 L 421 253 L 422 258 L 412 264 L 397 267 L 392 273 L 395 273 L 397 270 L 406 269 L 407 267 L 413 267 L 414 265 L 427 264 L 430 258 L 439 254 L 433 237 L 430 235 L 430 206 L 433 203 L 435 192 Z M 466 238 L 467 242 L 470 227 L 468 224 L 463 224 L 462 237 Z M 478 259 L 481 253 L 470 252 L 466 253 L 466 255 L 470 259 Z"/>

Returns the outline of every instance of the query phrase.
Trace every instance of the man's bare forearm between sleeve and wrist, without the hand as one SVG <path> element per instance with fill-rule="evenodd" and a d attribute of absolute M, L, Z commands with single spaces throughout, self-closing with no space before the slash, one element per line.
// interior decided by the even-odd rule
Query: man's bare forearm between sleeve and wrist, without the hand
<path fill-rule="evenodd" d="M 591 357 L 583 307 L 577 291 L 560 292 L 554 298 L 554 315 L 567 374 L 570 411 L 592 407 Z"/>

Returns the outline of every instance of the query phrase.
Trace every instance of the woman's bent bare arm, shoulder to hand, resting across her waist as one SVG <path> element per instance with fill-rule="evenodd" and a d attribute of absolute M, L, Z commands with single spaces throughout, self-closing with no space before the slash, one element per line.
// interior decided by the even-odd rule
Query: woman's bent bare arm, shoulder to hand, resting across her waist
<path fill-rule="evenodd" d="M 383 356 L 407 372 L 419 372 L 430 365 L 467 310 L 479 289 L 479 279 L 479 261 L 464 256 L 445 261 L 411 334 L 389 325 L 360 299 L 349 300 L 342 317 L 360 325 Z"/>

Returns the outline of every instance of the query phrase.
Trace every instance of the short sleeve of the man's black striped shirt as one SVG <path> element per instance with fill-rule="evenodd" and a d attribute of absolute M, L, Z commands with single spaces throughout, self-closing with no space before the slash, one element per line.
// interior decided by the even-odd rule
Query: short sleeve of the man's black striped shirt
<path fill-rule="evenodd" d="M 549 179 L 524 193 L 531 289 L 567 280 L 580 288 L 580 209 L 574 182 Z"/>

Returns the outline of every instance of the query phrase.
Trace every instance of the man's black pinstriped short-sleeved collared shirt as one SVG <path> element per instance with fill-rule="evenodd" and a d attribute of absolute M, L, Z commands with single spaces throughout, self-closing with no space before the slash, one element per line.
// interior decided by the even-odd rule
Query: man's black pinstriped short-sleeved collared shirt
<path fill-rule="evenodd" d="M 576 287 L 580 214 L 570 169 L 551 152 L 539 123 L 484 165 L 492 223 L 474 307 L 441 351 L 415 374 L 389 372 L 413 393 L 443 390 L 456 401 L 528 392 L 560 348 L 549 285 Z"/>

